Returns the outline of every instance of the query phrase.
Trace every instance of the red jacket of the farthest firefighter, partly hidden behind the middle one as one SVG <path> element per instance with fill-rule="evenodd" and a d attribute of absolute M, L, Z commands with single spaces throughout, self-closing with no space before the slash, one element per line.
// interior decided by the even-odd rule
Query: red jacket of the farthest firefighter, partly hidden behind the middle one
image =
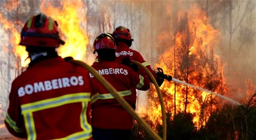
<path fill-rule="evenodd" d="M 143 66 L 148 68 L 148 70 L 153 74 L 154 78 L 157 79 L 156 73 L 154 72 L 154 70 L 152 70 L 150 64 L 148 64 L 148 62 L 144 60 L 140 52 L 136 50 L 132 50 L 131 48 L 129 48 L 129 46 L 127 46 L 123 42 L 118 42 L 117 50 L 116 50 L 116 62 L 121 63 L 122 60 L 126 57 L 129 57 L 130 60 L 140 62 Z M 94 63 L 97 63 L 97 62 L 98 62 L 98 56 L 96 57 Z M 138 69 L 138 74 L 142 75 L 145 78 L 148 77 L 148 74 L 146 74 L 146 72 L 142 70 L 142 68 Z"/>

